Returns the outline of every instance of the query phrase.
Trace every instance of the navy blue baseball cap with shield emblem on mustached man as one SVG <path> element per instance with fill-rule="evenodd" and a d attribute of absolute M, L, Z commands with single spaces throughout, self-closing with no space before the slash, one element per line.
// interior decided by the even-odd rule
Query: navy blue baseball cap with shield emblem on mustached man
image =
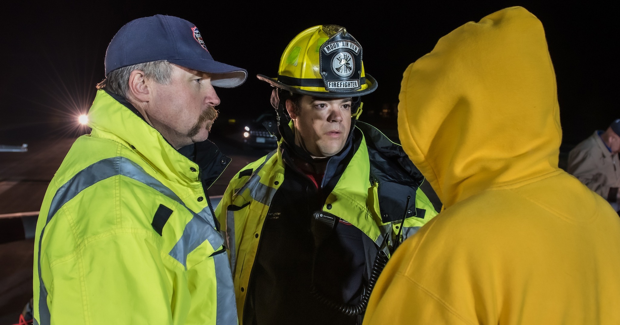
<path fill-rule="evenodd" d="M 236 87 L 247 78 L 245 69 L 213 60 L 194 24 L 163 15 L 131 20 L 118 30 L 105 52 L 105 76 L 123 66 L 161 60 L 216 74 L 211 78 L 216 87 Z"/>

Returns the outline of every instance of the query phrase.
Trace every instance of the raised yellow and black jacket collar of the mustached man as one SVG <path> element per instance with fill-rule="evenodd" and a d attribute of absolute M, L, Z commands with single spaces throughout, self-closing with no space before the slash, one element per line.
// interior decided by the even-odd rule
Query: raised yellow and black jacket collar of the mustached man
<path fill-rule="evenodd" d="M 89 110 L 91 134 L 122 143 L 166 179 L 180 184 L 202 180 L 209 187 L 224 171 L 230 158 L 209 140 L 172 148 L 164 137 L 123 97 L 97 91 Z"/>

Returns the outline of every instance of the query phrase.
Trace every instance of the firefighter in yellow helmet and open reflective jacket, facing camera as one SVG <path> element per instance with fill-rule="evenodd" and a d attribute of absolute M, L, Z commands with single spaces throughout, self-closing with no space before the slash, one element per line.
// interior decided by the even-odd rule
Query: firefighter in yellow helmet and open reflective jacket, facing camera
<path fill-rule="evenodd" d="M 401 146 L 357 121 L 377 87 L 361 59 L 346 29 L 319 25 L 289 43 L 277 78 L 257 76 L 274 87 L 278 149 L 216 209 L 243 324 L 360 324 L 389 256 L 439 210 Z"/>

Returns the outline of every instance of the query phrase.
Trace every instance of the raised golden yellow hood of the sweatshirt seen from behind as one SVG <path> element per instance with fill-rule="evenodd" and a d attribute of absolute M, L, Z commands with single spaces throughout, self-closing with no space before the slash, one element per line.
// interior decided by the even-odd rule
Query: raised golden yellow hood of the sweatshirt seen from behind
<path fill-rule="evenodd" d="M 405 152 L 445 207 L 557 171 L 556 78 L 541 22 L 510 7 L 442 37 L 404 73 Z"/>

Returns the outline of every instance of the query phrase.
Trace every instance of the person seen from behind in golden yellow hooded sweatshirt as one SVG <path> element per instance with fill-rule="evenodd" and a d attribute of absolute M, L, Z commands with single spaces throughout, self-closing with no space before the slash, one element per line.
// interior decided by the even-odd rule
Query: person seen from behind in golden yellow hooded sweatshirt
<path fill-rule="evenodd" d="M 407 68 L 405 152 L 445 209 L 404 241 L 364 324 L 620 324 L 620 219 L 558 168 L 541 22 L 510 7 Z"/>

